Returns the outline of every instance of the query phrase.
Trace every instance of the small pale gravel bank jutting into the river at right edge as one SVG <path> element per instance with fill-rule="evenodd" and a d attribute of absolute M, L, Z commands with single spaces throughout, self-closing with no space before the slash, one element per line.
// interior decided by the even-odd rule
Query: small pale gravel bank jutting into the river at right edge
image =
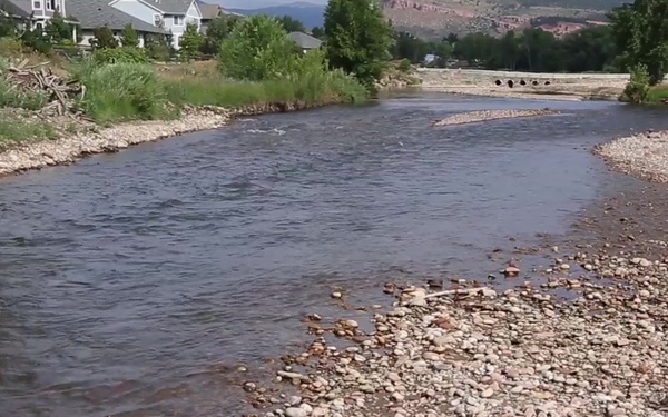
<path fill-rule="evenodd" d="M 652 182 L 668 182 L 668 131 L 632 135 L 595 149 L 613 169 Z"/>

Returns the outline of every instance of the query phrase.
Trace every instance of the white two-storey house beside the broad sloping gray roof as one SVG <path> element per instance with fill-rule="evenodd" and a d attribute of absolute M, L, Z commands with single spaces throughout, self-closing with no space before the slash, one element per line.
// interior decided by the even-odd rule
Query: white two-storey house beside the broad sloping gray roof
<path fill-rule="evenodd" d="M 202 28 L 202 11 L 195 0 L 111 0 L 109 6 L 145 23 L 173 34 L 173 47 L 179 49 L 188 23 Z"/>

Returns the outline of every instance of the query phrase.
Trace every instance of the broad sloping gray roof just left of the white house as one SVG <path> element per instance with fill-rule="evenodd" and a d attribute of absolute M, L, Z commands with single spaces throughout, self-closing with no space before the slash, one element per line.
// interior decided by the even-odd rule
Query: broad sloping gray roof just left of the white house
<path fill-rule="evenodd" d="M 67 0 L 68 17 L 76 18 L 81 29 L 96 29 L 104 26 L 122 30 L 127 24 L 140 32 L 163 33 L 164 30 L 141 21 L 109 6 L 109 0 Z"/>

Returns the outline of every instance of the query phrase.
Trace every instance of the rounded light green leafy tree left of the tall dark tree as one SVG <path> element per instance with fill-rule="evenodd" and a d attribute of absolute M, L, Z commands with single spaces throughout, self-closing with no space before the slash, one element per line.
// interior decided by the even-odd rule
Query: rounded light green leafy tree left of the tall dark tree
<path fill-rule="evenodd" d="M 253 16 L 242 20 L 220 46 L 223 75 L 238 80 L 287 77 L 299 51 L 278 20 Z"/>

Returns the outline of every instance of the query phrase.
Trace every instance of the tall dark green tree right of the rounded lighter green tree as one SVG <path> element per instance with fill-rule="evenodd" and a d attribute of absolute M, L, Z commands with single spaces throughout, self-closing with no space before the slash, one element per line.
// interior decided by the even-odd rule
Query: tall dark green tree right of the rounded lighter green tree
<path fill-rule="evenodd" d="M 325 9 L 330 64 L 373 89 L 390 58 L 392 29 L 376 0 L 330 0 Z"/>

